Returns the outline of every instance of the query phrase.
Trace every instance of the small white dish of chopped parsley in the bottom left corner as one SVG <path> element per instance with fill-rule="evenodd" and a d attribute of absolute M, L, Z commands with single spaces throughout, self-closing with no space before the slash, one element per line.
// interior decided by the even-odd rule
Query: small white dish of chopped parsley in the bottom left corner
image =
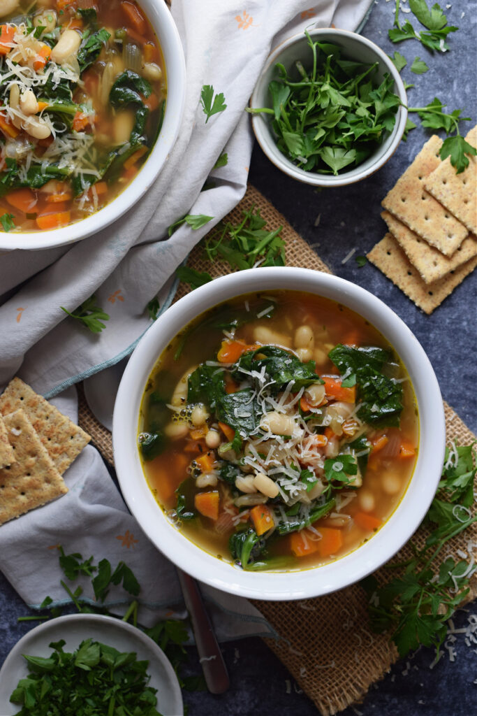
<path fill-rule="evenodd" d="M 29 657 L 28 661 L 25 654 Z M 51 657 L 51 654 L 55 656 Z M 74 654 L 74 660 L 69 654 Z M 75 669 L 77 675 L 72 678 L 72 670 Z M 21 681 L 28 686 L 25 681 L 31 674 L 38 675 L 43 692 L 31 682 L 28 687 L 29 704 L 21 710 L 21 703 L 17 702 L 22 691 Z M 89 681 L 94 682 L 92 695 L 87 694 L 88 679 L 85 681 L 82 678 L 88 674 Z M 110 677 L 114 684 L 120 684 L 123 679 L 124 686 L 117 692 L 114 686 L 111 689 L 113 683 Z M 57 698 L 51 696 L 54 695 L 54 688 L 49 696 L 49 684 L 56 684 L 59 688 L 62 679 L 61 697 L 67 697 L 64 707 L 67 703 L 74 703 L 77 713 L 83 712 L 80 704 L 84 698 L 89 699 L 87 707 L 92 709 L 91 713 L 116 713 L 116 708 L 127 708 L 128 705 L 140 707 L 144 716 L 155 713 L 177 716 L 183 713 L 179 682 L 164 652 L 137 627 L 112 616 L 68 614 L 45 621 L 27 632 L 11 649 L 0 670 L 0 713 L 9 716 L 17 713 L 64 713 L 61 705 L 58 712 L 53 710 L 57 702 Z M 141 682 L 140 687 L 138 681 Z M 116 693 L 111 695 L 112 691 Z M 11 695 L 15 692 L 16 702 L 12 703 Z M 156 699 L 157 703 L 154 703 Z M 93 710 L 92 701 L 97 702 L 98 711 Z"/>

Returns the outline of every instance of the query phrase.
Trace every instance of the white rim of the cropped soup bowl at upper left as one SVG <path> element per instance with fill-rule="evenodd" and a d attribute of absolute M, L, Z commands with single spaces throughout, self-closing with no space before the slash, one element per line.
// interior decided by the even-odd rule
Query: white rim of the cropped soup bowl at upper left
<path fill-rule="evenodd" d="M 126 213 L 146 193 L 162 170 L 177 138 L 184 110 L 185 57 L 179 32 L 167 5 L 162 0 L 139 0 L 139 6 L 157 35 L 164 57 L 167 82 L 164 120 L 149 157 L 132 182 L 92 216 L 68 226 L 44 231 L 0 231 L 0 249 L 52 248 L 87 238 Z"/>

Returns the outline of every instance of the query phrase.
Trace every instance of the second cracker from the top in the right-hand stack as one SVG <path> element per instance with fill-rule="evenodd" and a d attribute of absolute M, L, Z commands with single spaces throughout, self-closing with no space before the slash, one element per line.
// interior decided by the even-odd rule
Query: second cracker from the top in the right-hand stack
<path fill-rule="evenodd" d="M 424 187 L 428 175 L 441 164 L 438 155 L 441 145 L 439 137 L 431 137 L 381 203 L 431 246 L 452 256 L 468 229 Z"/>

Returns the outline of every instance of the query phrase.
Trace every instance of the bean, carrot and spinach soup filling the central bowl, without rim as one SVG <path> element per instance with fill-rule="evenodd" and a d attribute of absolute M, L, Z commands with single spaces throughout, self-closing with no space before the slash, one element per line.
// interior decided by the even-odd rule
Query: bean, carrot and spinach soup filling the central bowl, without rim
<path fill-rule="evenodd" d="M 413 472 L 418 417 L 368 321 L 271 291 L 186 326 L 149 377 L 140 430 L 149 486 L 187 538 L 242 569 L 283 570 L 378 531 Z"/>

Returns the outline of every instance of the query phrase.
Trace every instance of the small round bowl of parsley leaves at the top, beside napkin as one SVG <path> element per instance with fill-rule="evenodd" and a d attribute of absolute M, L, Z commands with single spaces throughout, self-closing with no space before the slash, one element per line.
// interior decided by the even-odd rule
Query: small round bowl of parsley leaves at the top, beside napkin
<path fill-rule="evenodd" d="M 332 187 L 387 162 L 403 136 L 406 105 L 403 81 L 377 45 L 354 32 L 315 29 L 273 50 L 248 111 L 278 169 Z"/>

